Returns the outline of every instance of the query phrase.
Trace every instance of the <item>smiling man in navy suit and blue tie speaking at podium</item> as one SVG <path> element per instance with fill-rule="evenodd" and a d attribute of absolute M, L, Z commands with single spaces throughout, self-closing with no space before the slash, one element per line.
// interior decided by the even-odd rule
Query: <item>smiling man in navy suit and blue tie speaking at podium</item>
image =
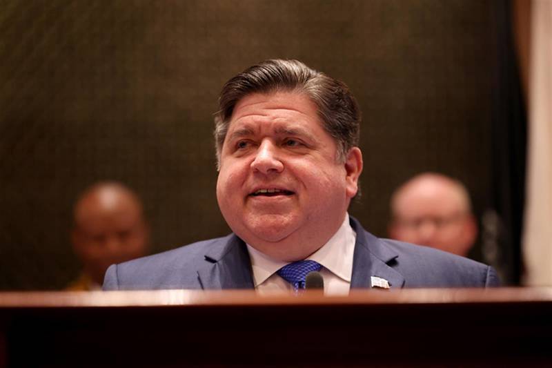
<path fill-rule="evenodd" d="M 349 217 L 362 172 L 360 110 L 341 81 L 268 60 L 230 79 L 219 107 L 217 200 L 233 233 L 112 265 L 103 289 L 291 291 L 311 271 L 331 295 L 498 284 L 491 267 L 378 239 Z"/>

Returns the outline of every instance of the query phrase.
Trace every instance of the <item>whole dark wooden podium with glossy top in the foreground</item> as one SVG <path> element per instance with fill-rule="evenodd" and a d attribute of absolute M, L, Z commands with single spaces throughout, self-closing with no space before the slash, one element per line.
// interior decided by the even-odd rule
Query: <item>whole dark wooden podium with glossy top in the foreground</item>
<path fill-rule="evenodd" d="M 0 293 L 0 367 L 552 367 L 552 289 Z"/>

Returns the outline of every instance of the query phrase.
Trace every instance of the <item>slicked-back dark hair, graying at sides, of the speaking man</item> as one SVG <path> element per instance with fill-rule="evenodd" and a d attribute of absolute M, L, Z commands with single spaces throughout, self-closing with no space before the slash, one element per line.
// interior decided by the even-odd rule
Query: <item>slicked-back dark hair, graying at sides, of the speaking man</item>
<path fill-rule="evenodd" d="M 222 87 L 219 111 L 215 114 L 217 168 L 220 168 L 222 146 L 236 104 L 252 93 L 279 90 L 304 93 L 316 104 L 324 129 L 337 143 L 339 162 L 345 162 L 348 151 L 358 146 L 360 108 L 346 84 L 301 61 L 272 59 L 247 68 Z"/>

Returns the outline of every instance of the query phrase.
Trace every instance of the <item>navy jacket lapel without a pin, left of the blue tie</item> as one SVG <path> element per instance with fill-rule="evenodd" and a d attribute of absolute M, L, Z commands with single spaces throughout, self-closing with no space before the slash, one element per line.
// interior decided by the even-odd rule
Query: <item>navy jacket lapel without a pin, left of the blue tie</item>
<path fill-rule="evenodd" d="M 253 289 L 246 245 L 236 235 L 213 244 L 197 270 L 202 289 Z"/>

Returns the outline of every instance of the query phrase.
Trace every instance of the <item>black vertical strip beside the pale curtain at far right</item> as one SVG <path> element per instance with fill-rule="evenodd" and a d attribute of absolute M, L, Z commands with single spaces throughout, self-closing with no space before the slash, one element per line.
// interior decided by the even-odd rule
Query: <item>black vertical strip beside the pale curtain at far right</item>
<path fill-rule="evenodd" d="M 520 284 L 526 165 L 526 107 L 513 41 L 511 1 L 492 3 L 495 26 L 492 193 L 483 253 L 505 285 Z"/>

